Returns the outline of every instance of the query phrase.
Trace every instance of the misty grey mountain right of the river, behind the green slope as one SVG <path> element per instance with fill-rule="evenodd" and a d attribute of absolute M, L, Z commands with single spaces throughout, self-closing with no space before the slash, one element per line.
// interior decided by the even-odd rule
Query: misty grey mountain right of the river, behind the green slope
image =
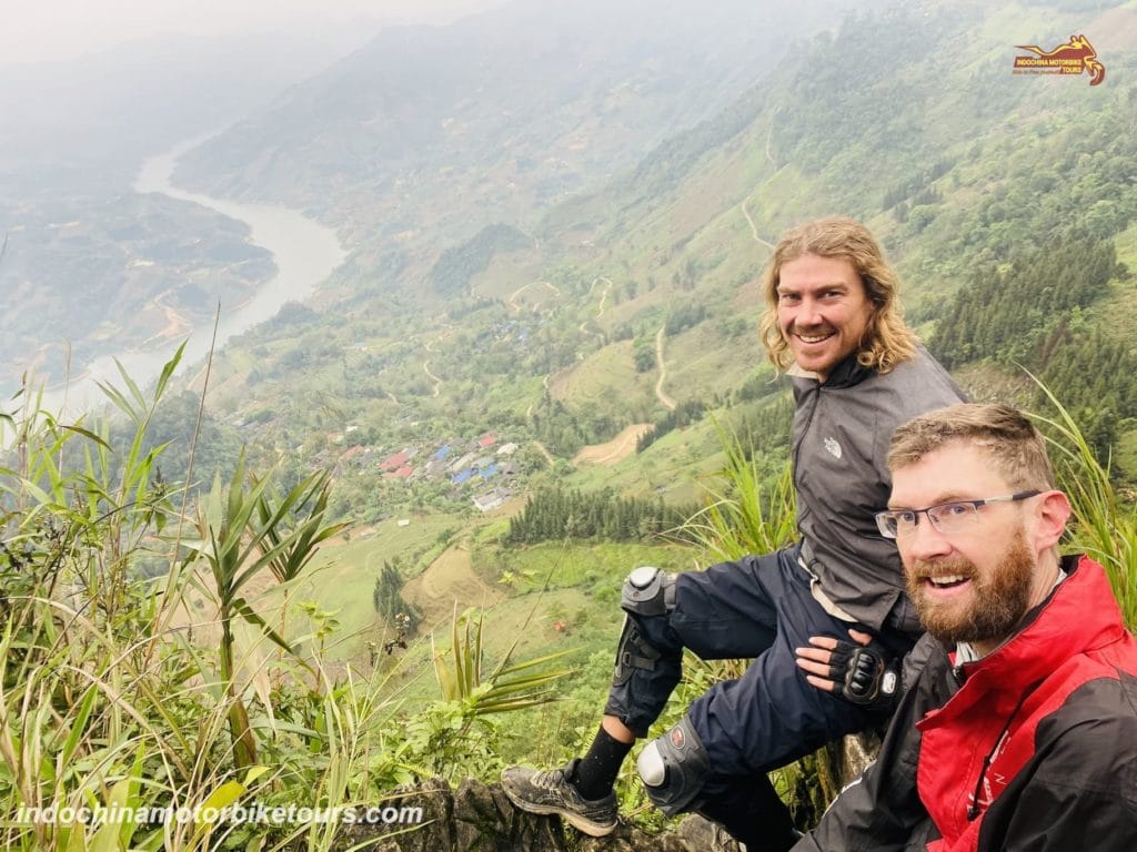
<path fill-rule="evenodd" d="M 520 0 L 390 28 L 191 151 L 175 177 L 308 207 L 350 244 L 414 232 L 437 251 L 599 185 L 844 6 Z"/>

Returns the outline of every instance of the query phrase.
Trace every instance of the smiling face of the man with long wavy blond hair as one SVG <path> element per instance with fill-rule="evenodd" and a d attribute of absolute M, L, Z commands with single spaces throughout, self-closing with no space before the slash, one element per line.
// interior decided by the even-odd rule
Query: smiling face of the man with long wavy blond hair
<path fill-rule="evenodd" d="M 849 260 L 803 254 L 782 264 L 778 325 L 798 367 L 822 382 L 861 348 L 872 312 Z"/>

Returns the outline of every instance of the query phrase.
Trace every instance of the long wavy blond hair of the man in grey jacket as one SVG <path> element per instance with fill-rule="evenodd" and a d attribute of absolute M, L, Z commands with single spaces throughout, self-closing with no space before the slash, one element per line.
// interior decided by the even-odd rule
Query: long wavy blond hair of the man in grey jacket
<path fill-rule="evenodd" d="M 830 216 L 798 225 L 782 235 L 763 274 L 766 311 L 762 316 L 760 335 L 774 367 L 785 371 L 794 360 L 778 324 L 778 284 L 782 264 L 804 254 L 845 258 L 861 276 L 865 295 L 872 303 L 872 318 L 857 352 L 861 365 L 888 373 L 901 361 L 915 356 L 916 339 L 905 325 L 901 308 L 901 283 L 885 260 L 880 244 L 856 219 Z"/>

